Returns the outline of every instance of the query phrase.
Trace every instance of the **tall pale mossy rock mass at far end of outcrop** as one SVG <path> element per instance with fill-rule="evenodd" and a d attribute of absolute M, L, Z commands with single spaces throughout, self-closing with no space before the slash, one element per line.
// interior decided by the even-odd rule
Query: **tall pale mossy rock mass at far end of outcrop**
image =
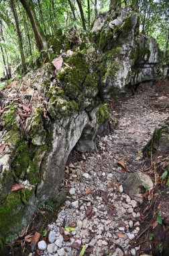
<path fill-rule="evenodd" d="M 127 84 L 162 75 L 162 52 L 156 40 L 139 34 L 137 13 L 122 9 L 117 16 L 99 17 L 93 27 L 93 40 L 103 53 L 101 90 L 115 96 Z"/>

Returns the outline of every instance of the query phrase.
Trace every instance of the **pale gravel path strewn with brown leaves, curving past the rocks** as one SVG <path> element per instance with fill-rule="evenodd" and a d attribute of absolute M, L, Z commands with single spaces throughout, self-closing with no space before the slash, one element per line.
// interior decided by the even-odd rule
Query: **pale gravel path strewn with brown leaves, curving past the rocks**
<path fill-rule="evenodd" d="M 54 238 L 42 255 L 79 255 L 82 248 L 91 256 L 139 255 L 132 241 L 140 230 L 140 208 L 121 184 L 129 172 L 142 170 L 142 149 L 168 117 L 168 92 L 164 80 L 160 83 L 165 90 L 159 84 L 142 84 L 137 94 L 121 100 L 121 107 L 113 110 L 119 123 L 111 134 L 98 138 L 98 152 L 83 154 L 66 167 L 66 204 L 48 226 Z M 121 159 L 128 172 L 118 164 Z M 65 232 L 65 226 L 73 228 Z"/>

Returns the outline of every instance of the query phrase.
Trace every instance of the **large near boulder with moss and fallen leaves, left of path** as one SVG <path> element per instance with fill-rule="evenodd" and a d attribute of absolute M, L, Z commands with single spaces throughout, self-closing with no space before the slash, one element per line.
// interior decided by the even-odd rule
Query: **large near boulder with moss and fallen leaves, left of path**
<path fill-rule="evenodd" d="M 38 202 L 57 197 L 70 151 L 82 133 L 95 150 L 99 77 L 94 53 L 78 52 L 57 72 L 47 63 L 3 90 L 0 230 L 21 232 Z"/>

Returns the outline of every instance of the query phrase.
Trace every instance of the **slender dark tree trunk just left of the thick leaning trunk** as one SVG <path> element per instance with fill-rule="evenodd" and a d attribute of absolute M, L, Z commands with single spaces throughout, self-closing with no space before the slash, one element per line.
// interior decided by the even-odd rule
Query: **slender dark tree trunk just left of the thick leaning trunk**
<path fill-rule="evenodd" d="M 15 20 L 15 26 L 16 26 L 16 30 L 17 30 L 17 38 L 18 38 L 18 43 L 19 43 L 19 52 L 21 55 L 21 64 L 23 67 L 23 71 L 26 71 L 26 64 L 25 64 L 25 55 L 23 53 L 23 40 L 22 40 L 22 36 L 21 36 L 21 30 L 19 28 L 19 20 L 17 18 L 17 12 L 15 9 L 15 5 L 13 3 L 13 0 L 10 0 L 10 6 L 11 6 L 11 11 L 13 13 L 13 18 Z"/>

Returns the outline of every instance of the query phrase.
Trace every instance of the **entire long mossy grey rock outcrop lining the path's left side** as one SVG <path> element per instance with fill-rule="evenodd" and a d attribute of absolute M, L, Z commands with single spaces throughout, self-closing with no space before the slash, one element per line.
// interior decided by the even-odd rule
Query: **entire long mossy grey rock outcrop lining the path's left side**
<path fill-rule="evenodd" d="M 160 75 L 156 41 L 139 36 L 138 30 L 138 15 L 132 10 L 109 13 L 98 18 L 91 34 L 99 50 L 64 53 L 62 69 L 55 75 L 48 63 L 3 91 L 2 234 L 21 231 L 38 201 L 57 197 L 74 146 L 81 152 L 95 150 L 97 128 L 108 116 L 101 99 L 115 96 L 129 83 Z M 11 191 L 16 184 L 24 187 Z"/>

